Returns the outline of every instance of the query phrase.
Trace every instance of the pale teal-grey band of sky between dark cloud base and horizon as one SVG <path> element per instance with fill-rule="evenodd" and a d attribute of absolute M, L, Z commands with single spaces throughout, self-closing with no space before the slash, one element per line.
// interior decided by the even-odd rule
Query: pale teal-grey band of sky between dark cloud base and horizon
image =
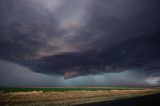
<path fill-rule="evenodd" d="M 0 86 L 9 87 L 93 87 L 93 86 L 146 86 L 157 85 L 158 75 L 145 79 L 141 74 L 132 71 L 106 73 L 103 75 L 80 76 L 65 80 L 63 77 L 36 73 L 26 67 L 0 60 Z M 27 76 L 27 77 L 26 77 Z M 125 77 L 124 77 L 125 76 Z M 129 80 L 128 80 L 129 79 Z"/>

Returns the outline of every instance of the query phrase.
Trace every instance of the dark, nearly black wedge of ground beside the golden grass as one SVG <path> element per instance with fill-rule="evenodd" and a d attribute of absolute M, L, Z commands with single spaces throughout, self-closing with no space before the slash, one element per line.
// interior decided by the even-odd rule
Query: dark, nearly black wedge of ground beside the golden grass
<path fill-rule="evenodd" d="M 160 93 L 130 99 L 97 102 L 76 106 L 160 106 Z"/>

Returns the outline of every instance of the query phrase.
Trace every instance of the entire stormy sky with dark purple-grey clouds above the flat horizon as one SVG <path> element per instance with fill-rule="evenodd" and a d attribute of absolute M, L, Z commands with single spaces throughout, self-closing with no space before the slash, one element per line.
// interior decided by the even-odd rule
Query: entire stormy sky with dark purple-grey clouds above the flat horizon
<path fill-rule="evenodd" d="M 159 0 L 1 0 L 0 86 L 160 86 Z"/>

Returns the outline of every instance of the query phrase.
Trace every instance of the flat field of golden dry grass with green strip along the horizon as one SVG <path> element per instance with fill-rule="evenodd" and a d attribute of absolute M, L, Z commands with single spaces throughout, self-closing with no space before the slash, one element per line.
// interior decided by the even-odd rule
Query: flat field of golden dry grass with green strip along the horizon
<path fill-rule="evenodd" d="M 160 88 L 1 88 L 0 106 L 67 106 L 160 93 Z"/>

